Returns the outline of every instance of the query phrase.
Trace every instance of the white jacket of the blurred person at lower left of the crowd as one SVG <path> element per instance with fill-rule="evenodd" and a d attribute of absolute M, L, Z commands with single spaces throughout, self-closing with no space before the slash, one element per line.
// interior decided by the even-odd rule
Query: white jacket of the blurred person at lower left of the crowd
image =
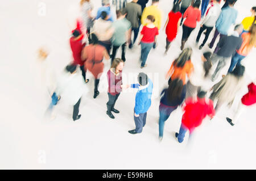
<path fill-rule="evenodd" d="M 81 96 L 87 92 L 88 87 L 86 87 L 80 72 L 71 74 L 65 71 L 57 83 L 56 94 L 72 105 L 75 105 Z"/>

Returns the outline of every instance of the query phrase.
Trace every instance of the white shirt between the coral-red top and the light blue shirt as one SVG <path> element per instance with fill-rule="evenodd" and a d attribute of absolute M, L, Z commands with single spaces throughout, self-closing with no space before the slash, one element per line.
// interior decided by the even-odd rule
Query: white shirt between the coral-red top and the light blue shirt
<path fill-rule="evenodd" d="M 207 16 L 205 16 L 203 20 L 203 24 L 207 27 L 214 27 L 220 14 L 221 7 L 218 3 L 216 3 L 213 5 L 213 7 L 210 7 Z"/>

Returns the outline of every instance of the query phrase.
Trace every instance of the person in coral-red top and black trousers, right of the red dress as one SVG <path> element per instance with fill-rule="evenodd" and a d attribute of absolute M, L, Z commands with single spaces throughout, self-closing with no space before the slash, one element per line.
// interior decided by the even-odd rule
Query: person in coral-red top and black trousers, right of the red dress
<path fill-rule="evenodd" d="M 190 36 L 191 32 L 196 28 L 196 22 L 200 22 L 201 20 L 201 11 L 199 10 L 200 7 L 200 0 L 196 0 L 192 6 L 189 6 L 188 9 L 184 12 L 183 18 L 185 22 L 182 26 L 182 39 L 181 39 L 181 47 L 180 49 L 183 50 L 188 37 Z"/>

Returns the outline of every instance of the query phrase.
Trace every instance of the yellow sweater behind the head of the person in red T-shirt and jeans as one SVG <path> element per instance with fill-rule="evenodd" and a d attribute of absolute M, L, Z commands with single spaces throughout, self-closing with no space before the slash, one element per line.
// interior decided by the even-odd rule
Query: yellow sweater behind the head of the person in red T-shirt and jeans
<path fill-rule="evenodd" d="M 146 26 L 146 19 L 148 15 L 152 15 L 155 17 L 155 26 L 158 27 L 158 30 L 161 28 L 162 24 L 162 11 L 158 9 L 158 6 L 152 5 L 148 6 L 144 9 L 141 17 L 141 23 L 143 26 Z"/>

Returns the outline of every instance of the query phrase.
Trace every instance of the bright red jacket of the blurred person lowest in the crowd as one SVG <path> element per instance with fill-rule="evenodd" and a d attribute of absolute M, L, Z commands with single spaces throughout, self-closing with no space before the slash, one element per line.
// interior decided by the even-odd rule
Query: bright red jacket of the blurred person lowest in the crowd
<path fill-rule="evenodd" d="M 189 132 L 191 132 L 193 128 L 199 127 L 207 115 L 210 117 L 215 115 L 213 101 L 209 100 L 209 103 L 207 103 L 205 98 L 197 98 L 196 101 L 192 98 L 187 99 L 183 110 L 185 112 L 181 122 L 189 129 Z"/>

